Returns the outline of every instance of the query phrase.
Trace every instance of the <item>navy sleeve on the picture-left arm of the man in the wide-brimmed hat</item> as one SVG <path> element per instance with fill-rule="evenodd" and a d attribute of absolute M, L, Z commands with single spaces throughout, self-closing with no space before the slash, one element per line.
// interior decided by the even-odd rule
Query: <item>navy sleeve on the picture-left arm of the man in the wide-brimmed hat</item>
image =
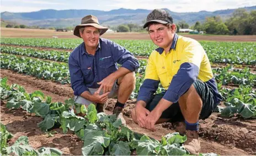
<path fill-rule="evenodd" d="M 89 91 L 83 81 L 83 74 L 78 65 L 78 61 L 73 58 L 71 53 L 68 58 L 68 67 L 70 69 L 71 87 L 75 96 L 80 96 L 84 91 Z"/>

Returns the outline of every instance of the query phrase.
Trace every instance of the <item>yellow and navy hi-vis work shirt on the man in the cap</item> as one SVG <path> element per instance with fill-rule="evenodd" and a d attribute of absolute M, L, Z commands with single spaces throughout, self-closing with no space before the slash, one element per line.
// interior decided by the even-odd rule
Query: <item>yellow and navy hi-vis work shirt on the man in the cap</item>
<path fill-rule="evenodd" d="M 216 93 L 215 102 L 220 101 L 221 96 L 204 48 L 192 38 L 175 34 L 168 53 L 163 48 L 157 48 L 148 58 L 145 80 L 137 101 L 150 101 L 161 82 L 166 89 L 163 98 L 175 103 L 196 79 L 206 82 Z"/>

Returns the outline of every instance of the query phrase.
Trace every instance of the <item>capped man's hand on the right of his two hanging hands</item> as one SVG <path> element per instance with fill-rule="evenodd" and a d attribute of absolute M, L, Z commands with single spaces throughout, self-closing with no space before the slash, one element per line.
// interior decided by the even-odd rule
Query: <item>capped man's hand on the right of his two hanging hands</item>
<path fill-rule="evenodd" d="M 146 117 L 146 129 L 151 131 L 156 131 L 156 127 L 154 126 L 159 120 L 160 116 L 162 115 L 162 112 L 156 109 L 153 109 L 152 112 L 150 112 L 149 115 Z"/>

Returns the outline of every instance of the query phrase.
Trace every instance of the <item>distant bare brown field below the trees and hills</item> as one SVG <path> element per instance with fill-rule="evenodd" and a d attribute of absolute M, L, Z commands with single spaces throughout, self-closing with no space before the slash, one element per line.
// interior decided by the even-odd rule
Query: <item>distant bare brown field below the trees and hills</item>
<path fill-rule="evenodd" d="M 1 37 L 15 37 L 15 38 L 78 38 L 73 35 L 73 32 L 56 32 L 55 30 L 40 30 L 40 29 L 14 29 L 1 27 Z M 198 41 L 236 41 L 236 42 L 256 42 L 255 35 L 182 35 L 191 37 Z M 119 40 L 150 40 L 147 32 L 115 32 L 105 33 L 103 38 L 119 39 Z"/>

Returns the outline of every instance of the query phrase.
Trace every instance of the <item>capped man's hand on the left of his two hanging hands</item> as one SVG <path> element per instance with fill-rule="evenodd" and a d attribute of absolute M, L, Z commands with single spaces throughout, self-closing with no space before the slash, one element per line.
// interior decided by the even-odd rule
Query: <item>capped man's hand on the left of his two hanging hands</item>
<path fill-rule="evenodd" d="M 146 117 L 150 114 L 150 111 L 146 108 L 146 103 L 137 102 L 135 106 L 135 115 L 140 127 L 146 128 Z"/>

